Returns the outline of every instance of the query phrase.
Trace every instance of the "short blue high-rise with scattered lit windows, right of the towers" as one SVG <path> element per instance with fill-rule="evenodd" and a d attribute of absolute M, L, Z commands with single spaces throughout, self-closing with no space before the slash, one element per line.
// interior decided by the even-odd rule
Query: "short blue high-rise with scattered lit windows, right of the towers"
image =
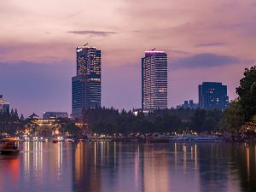
<path fill-rule="evenodd" d="M 220 109 L 228 108 L 229 96 L 227 86 L 216 82 L 203 82 L 198 86 L 199 108 Z"/>

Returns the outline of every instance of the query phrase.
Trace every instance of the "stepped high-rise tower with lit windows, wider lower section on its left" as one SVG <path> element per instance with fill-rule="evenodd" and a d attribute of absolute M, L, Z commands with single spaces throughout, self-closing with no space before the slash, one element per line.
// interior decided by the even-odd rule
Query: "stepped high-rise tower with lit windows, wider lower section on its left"
<path fill-rule="evenodd" d="M 83 109 L 101 107 L 102 53 L 95 47 L 76 49 L 77 75 L 72 78 L 72 116 L 80 118 Z"/>

